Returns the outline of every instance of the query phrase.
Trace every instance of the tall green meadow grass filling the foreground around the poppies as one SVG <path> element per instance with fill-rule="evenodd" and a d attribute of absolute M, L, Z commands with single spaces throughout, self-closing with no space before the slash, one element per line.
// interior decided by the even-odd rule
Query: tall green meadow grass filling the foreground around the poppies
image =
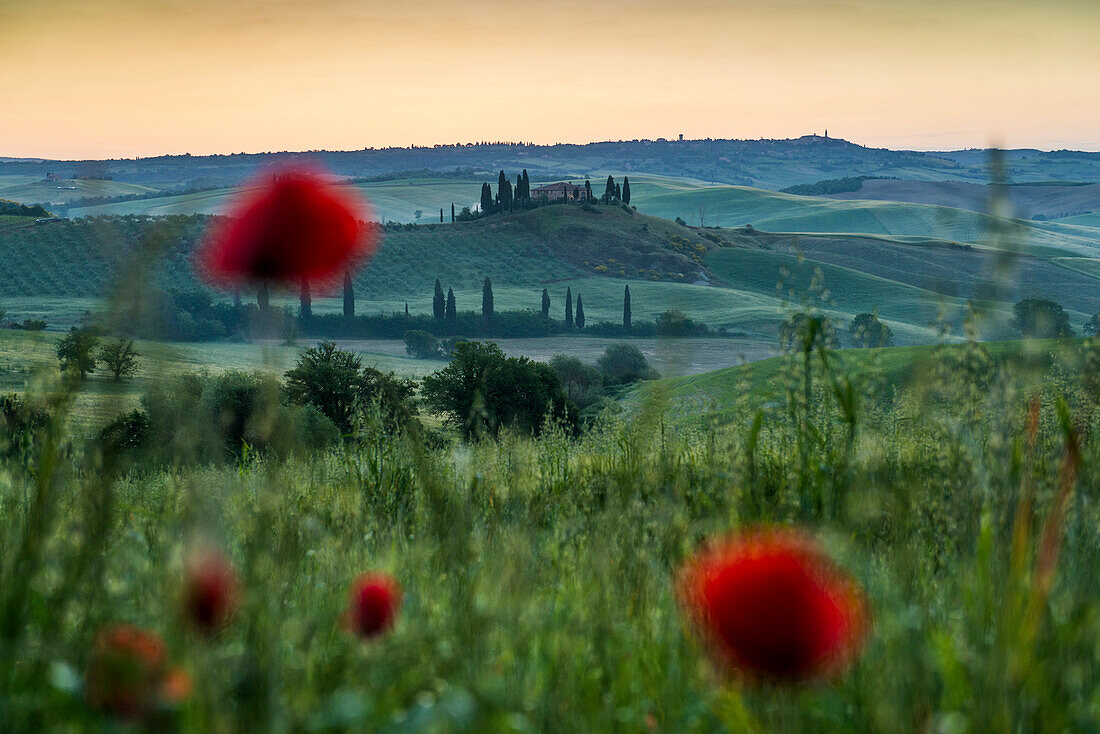
<path fill-rule="evenodd" d="M 1100 415 L 1072 361 L 1047 359 L 1036 383 L 1019 344 L 990 351 L 1007 380 L 956 375 L 950 399 L 891 390 L 913 386 L 921 349 L 839 354 L 859 397 L 847 421 L 826 390 L 788 393 L 799 375 L 769 361 L 724 388 L 778 396 L 759 430 L 749 412 L 667 419 L 701 413 L 685 403 L 718 380 L 701 375 L 575 439 L 428 446 L 367 428 L 287 461 L 182 454 L 121 475 L 79 445 L 47 450 L 53 472 L 6 460 L 0 717 L 122 728 L 81 688 L 97 631 L 125 623 L 194 681 L 132 726 L 147 731 L 1094 731 Z M 861 376 L 868 360 L 886 386 Z M 1080 458 L 1076 482 L 1059 480 L 1064 456 Z M 850 668 L 777 684 L 710 661 L 676 579 L 707 541 L 760 525 L 814 536 L 866 596 Z M 243 588 L 210 638 L 179 607 L 196 539 Z M 349 584 L 377 570 L 403 605 L 392 631 L 356 639 L 340 622 Z"/>

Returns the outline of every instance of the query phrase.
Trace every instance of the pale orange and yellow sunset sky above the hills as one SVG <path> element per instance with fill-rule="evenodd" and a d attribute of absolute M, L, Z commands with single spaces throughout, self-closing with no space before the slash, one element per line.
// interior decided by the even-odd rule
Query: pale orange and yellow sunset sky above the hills
<path fill-rule="evenodd" d="M 0 156 L 790 138 L 1100 150 L 1097 0 L 0 0 Z"/>

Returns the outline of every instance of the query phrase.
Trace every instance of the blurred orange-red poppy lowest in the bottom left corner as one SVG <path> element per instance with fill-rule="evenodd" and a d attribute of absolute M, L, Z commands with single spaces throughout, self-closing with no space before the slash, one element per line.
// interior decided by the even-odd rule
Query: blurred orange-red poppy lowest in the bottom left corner
<path fill-rule="evenodd" d="M 190 679 L 168 669 L 164 640 L 156 633 L 119 625 L 101 629 L 85 671 L 88 703 L 121 719 L 140 719 L 178 703 L 190 693 Z"/>

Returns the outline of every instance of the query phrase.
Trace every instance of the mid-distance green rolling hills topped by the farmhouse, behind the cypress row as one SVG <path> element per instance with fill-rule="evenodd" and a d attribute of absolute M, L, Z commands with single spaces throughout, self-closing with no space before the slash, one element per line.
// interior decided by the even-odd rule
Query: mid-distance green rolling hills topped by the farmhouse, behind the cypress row
<path fill-rule="evenodd" d="M 0 270 L 9 274 L 0 282 L 0 307 L 16 320 L 33 316 L 66 328 L 144 252 L 157 254 L 152 276 L 164 287 L 201 288 L 189 256 L 210 221 L 98 217 L 0 233 Z M 1078 327 L 1100 310 L 1100 259 L 1074 247 L 1033 250 L 1009 259 L 988 247 L 933 238 L 698 229 L 624 207 L 551 206 L 387 228 L 355 287 L 360 313 L 400 311 L 407 304 L 413 314 L 430 314 L 439 278 L 454 289 L 460 310 L 476 310 L 482 281 L 490 277 L 498 309 L 537 310 L 546 288 L 559 318 L 569 288 L 584 298 L 595 324 L 622 318 L 629 283 L 635 319 L 679 309 L 756 340 L 774 338 L 783 309 L 807 299 L 842 325 L 878 310 L 898 343 L 935 340 L 937 321 L 957 327 L 967 299 L 986 306 L 989 337 L 1007 333 L 1011 305 L 1021 297 L 1058 300 Z M 333 295 L 315 293 L 315 313 L 339 313 L 341 299 Z M 275 300 L 295 307 L 296 294 Z"/>

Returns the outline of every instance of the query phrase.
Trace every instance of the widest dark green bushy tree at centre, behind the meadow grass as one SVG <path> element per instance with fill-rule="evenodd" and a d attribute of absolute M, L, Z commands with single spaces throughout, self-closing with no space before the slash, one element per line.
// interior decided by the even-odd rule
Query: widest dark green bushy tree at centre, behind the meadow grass
<path fill-rule="evenodd" d="M 451 363 L 425 377 L 422 394 L 468 438 L 496 436 L 505 427 L 536 435 L 547 420 L 576 420 L 550 365 L 505 357 L 492 342 L 457 344 Z"/>

